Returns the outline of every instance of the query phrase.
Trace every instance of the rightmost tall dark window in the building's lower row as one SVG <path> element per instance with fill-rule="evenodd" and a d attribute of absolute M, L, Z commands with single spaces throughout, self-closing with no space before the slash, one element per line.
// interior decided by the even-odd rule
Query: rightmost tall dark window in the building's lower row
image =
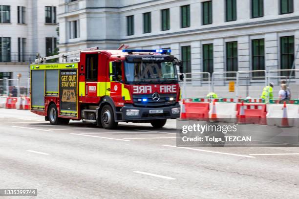
<path fill-rule="evenodd" d="M 294 36 L 280 38 L 280 68 L 292 69 L 294 62 Z M 294 73 L 293 73 L 294 74 Z M 281 76 L 289 76 L 290 71 L 281 72 Z"/>

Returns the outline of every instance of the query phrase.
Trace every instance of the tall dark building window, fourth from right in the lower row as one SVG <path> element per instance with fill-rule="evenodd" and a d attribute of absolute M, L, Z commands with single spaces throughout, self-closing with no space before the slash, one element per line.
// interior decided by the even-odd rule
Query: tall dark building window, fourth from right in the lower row
<path fill-rule="evenodd" d="M 203 44 L 203 72 L 209 72 L 212 74 L 214 72 L 214 60 L 213 60 L 213 44 Z M 204 75 L 205 78 L 208 75 Z"/>

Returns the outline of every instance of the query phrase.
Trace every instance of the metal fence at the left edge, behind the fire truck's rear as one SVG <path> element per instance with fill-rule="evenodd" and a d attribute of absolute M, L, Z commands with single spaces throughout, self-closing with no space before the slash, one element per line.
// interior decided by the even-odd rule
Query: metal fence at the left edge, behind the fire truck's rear
<path fill-rule="evenodd" d="M 0 96 L 30 96 L 30 79 L 0 79 Z"/>

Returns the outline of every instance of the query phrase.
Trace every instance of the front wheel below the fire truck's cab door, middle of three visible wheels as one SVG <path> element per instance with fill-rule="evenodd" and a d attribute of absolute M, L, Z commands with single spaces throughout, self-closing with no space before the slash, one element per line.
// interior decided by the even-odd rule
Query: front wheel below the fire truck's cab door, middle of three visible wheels
<path fill-rule="evenodd" d="M 109 105 L 105 105 L 101 111 L 101 123 L 104 129 L 116 129 L 117 122 L 114 121 L 114 114 Z"/>

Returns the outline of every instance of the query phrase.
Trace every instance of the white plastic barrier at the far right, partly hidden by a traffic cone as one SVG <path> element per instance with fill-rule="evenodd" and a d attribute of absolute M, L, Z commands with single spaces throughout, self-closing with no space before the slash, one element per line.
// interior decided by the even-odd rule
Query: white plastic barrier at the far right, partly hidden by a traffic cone
<path fill-rule="evenodd" d="M 287 116 L 290 126 L 299 127 L 299 106 L 287 105 Z M 267 124 L 271 126 L 280 126 L 283 116 L 283 104 L 267 104 Z"/>

